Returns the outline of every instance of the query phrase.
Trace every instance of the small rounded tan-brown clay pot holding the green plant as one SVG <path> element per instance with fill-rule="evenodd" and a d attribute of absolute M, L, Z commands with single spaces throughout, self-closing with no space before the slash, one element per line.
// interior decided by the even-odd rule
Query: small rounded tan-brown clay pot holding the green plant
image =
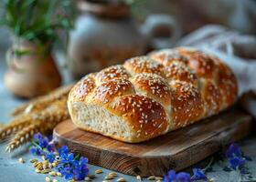
<path fill-rule="evenodd" d="M 40 96 L 60 86 L 59 71 L 47 48 L 16 39 L 8 49 L 5 86 L 15 96 Z"/>

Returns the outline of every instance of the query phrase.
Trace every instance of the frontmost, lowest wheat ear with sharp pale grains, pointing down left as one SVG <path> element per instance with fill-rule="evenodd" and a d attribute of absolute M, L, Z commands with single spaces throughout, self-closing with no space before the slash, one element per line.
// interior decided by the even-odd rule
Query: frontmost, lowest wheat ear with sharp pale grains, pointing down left
<path fill-rule="evenodd" d="M 40 121 L 34 121 L 30 126 L 27 126 L 17 132 L 16 136 L 11 139 L 5 150 L 7 152 L 12 152 L 17 147 L 27 143 L 38 132 L 44 133 L 45 129 L 45 127 L 42 127 L 42 123 Z"/>

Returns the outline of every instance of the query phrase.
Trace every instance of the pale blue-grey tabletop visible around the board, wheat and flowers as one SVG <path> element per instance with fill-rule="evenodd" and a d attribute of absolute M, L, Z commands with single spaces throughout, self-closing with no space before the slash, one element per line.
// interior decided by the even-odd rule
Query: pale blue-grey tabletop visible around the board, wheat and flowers
<path fill-rule="evenodd" d="M 1 38 L 1 35 L 0 35 Z M 10 120 L 9 113 L 16 106 L 25 103 L 26 100 L 21 100 L 12 96 L 4 86 L 3 76 L 6 70 L 5 64 L 5 47 L 0 45 L 0 123 L 6 123 Z M 67 76 L 65 76 L 67 78 Z M 68 80 L 68 79 L 67 79 Z M 252 161 L 248 162 L 248 167 L 251 170 L 251 173 L 256 176 L 256 136 L 252 134 L 240 142 L 240 147 L 244 153 L 252 158 Z M 219 155 L 215 155 L 215 158 Z M 27 162 L 25 164 L 20 164 L 18 158 L 23 157 Z M 22 147 L 18 149 L 15 153 L 8 154 L 5 153 L 5 143 L 0 144 L 0 182 L 26 182 L 26 181 L 45 181 L 47 175 L 38 175 L 31 163 L 29 163 L 30 158 L 35 158 L 27 152 L 27 147 Z M 207 160 L 201 161 L 196 166 L 204 167 L 208 163 Z M 227 163 L 227 161 L 224 161 Z M 101 167 L 95 167 L 89 165 L 91 173 L 94 173 L 96 169 Z M 103 178 L 110 173 L 108 169 L 103 169 L 101 175 L 97 175 L 97 178 L 93 181 L 102 181 Z M 191 168 L 187 169 L 188 171 Z M 118 174 L 119 177 L 124 177 L 127 181 L 137 181 L 135 177 Z M 226 172 L 223 171 L 223 165 L 220 164 L 220 161 L 214 162 L 213 171 L 208 172 L 209 178 L 215 178 L 215 181 L 219 182 L 237 182 L 239 177 L 235 172 Z M 55 177 L 59 181 L 65 181 L 63 177 Z M 145 180 L 144 180 L 145 181 Z"/>

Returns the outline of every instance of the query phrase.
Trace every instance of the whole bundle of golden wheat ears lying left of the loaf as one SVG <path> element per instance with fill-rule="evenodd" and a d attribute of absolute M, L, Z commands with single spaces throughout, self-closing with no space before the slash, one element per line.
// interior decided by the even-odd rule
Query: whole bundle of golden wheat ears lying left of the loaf
<path fill-rule="evenodd" d="M 0 131 L 0 140 L 11 137 L 6 151 L 11 152 L 27 143 L 34 134 L 49 133 L 59 122 L 69 118 L 67 107 L 68 93 L 71 86 L 59 88 L 48 96 L 34 99 L 30 104 L 20 106 L 14 112 L 15 119 Z M 27 107 L 34 107 L 27 112 Z"/>

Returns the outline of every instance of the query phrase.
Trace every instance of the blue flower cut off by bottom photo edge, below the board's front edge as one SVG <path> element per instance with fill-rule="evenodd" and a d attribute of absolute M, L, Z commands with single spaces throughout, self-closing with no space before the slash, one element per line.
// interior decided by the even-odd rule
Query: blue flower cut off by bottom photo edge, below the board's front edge
<path fill-rule="evenodd" d="M 188 173 L 179 172 L 176 173 L 175 170 L 170 170 L 168 175 L 164 178 L 165 182 L 191 182 L 191 177 Z"/>

